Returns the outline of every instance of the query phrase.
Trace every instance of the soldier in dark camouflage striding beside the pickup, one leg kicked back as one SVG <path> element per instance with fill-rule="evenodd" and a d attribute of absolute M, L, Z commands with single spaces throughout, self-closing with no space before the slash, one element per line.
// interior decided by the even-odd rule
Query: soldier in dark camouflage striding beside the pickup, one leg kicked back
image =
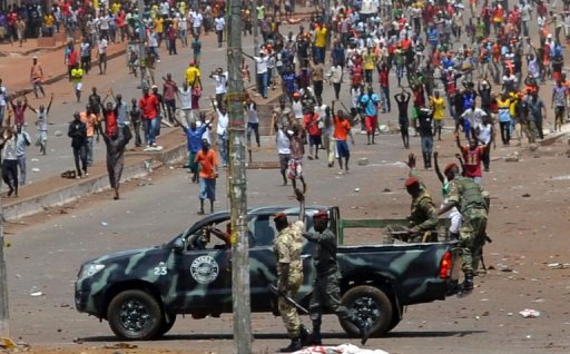
<path fill-rule="evenodd" d="M 327 212 L 322 210 L 313 215 L 313 225 L 316 233 L 303 234 L 306 239 L 318 245 L 314 257 L 316 279 L 308 307 L 309 317 L 313 322 L 313 333 L 306 344 L 322 344 L 321 318 L 323 307 L 328 307 L 338 318 L 348 319 L 358 327 L 364 345 L 370 335 L 370 325 L 341 305 L 341 289 L 338 288 L 341 272 L 336 262 L 336 236 L 327 228 Z"/>

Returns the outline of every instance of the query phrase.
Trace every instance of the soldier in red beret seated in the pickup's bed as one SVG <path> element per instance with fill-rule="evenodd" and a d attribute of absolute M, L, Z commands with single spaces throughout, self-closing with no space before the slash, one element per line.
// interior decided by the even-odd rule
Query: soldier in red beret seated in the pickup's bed
<path fill-rule="evenodd" d="M 389 225 L 384 236 L 385 244 L 393 244 L 394 238 L 407 243 L 434 242 L 438 227 L 438 209 L 432 197 L 416 177 L 405 180 L 405 189 L 412 196 L 410 226 Z"/>

